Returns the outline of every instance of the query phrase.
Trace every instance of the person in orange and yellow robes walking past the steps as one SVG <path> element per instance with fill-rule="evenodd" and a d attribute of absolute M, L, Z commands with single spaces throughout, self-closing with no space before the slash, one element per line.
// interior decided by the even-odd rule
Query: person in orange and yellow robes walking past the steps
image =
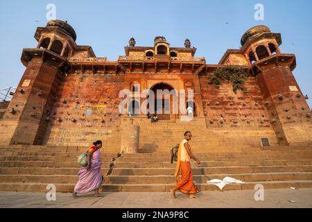
<path fill-rule="evenodd" d="M 171 195 L 173 198 L 176 198 L 175 191 L 180 191 L 183 194 L 189 194 L 190 198 L 198 198 L 194 194 L 199 193 L 193 183 L 193 172 L 191 169 L 190 160 L 193 159 L 197 164 L 200 164 L 200 161 L 191 153 L 191 146 L 189 146 L 189 141 L 193 136 L 191 132 L 187 131 L 184 133 L 184 139 L 180 142 L 179 151 L 177 151 L 177 167 L 175 169 L 175 178 L 179 177 L 179 172 L 181 169 L 181 180 L 177 182 L 175 187 L 171 189 Z"/>

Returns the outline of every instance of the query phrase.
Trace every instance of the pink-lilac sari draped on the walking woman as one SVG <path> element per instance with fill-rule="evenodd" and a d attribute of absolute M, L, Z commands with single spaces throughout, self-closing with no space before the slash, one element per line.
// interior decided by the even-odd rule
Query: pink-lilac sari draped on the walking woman
<path fill-rule="evenodd" d="M 101 172 L 101 153 L 100 150 L 94 151 L 91 156 L 91 167 L 82 167 L 78 172 L 78 182 L 73 189 L 76 194 L 87 194 L 101 187 L 103 174 Z"/>

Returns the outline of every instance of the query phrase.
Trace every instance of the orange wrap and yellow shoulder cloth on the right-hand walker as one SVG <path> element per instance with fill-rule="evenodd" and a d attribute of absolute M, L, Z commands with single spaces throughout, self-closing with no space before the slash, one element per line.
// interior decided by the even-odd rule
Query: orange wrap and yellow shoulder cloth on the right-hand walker
<path fill-rule="evenodd" d="M 180 142 L 179 150 L 177 151 L 177 166 L 175 168 L 175 178 L 179 177 L 181 169 L 181 180 L 175 185 L 175 189 L 183 194 L 197 194 L 200 192 L 193 183 L 193 172 L 191 169 L 191 162 L 181 161 L 181 150 L 184 144 Z"/>

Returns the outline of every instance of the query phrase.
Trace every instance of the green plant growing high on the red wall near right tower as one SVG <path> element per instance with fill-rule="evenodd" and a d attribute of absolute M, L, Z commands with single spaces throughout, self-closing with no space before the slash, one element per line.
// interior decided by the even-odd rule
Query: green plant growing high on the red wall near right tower
<path fill-rule="evenodd" d="M 228 81 L 233 84 L 233 92 L 237 93 L 237 89 L 247 93 L 247 88 L 244 86 L 247 80 L 248 73 L 243 67 L 227 66 L 220 67 L 214 72 L 208 74 L 209 84 L 214 84 L 216 89 L 220 88 L 223 81 Z"/>

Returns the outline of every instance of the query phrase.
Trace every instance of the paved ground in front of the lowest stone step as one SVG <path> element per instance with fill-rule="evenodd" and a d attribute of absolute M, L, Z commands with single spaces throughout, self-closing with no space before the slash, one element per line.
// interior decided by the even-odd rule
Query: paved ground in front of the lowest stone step
<path fill-rule="evenodd" d="M 55 201 L 46 200 L 44 193 L 0 192 L 0 207 L 105 207 L 105 208 L 200 208 L 200 207 L 312 207 L 312 189 L 270 189 L 264 191 L 264 200 L 254 200 L 255 190 L 203 191 L 199 199 L 190 199 L 177 193 L 112 192 L 104 198 L 92 194 L 73 198 L 71 194 L 56 194 Z M 291 203 L 289 200 L 295 200 Z"/>

